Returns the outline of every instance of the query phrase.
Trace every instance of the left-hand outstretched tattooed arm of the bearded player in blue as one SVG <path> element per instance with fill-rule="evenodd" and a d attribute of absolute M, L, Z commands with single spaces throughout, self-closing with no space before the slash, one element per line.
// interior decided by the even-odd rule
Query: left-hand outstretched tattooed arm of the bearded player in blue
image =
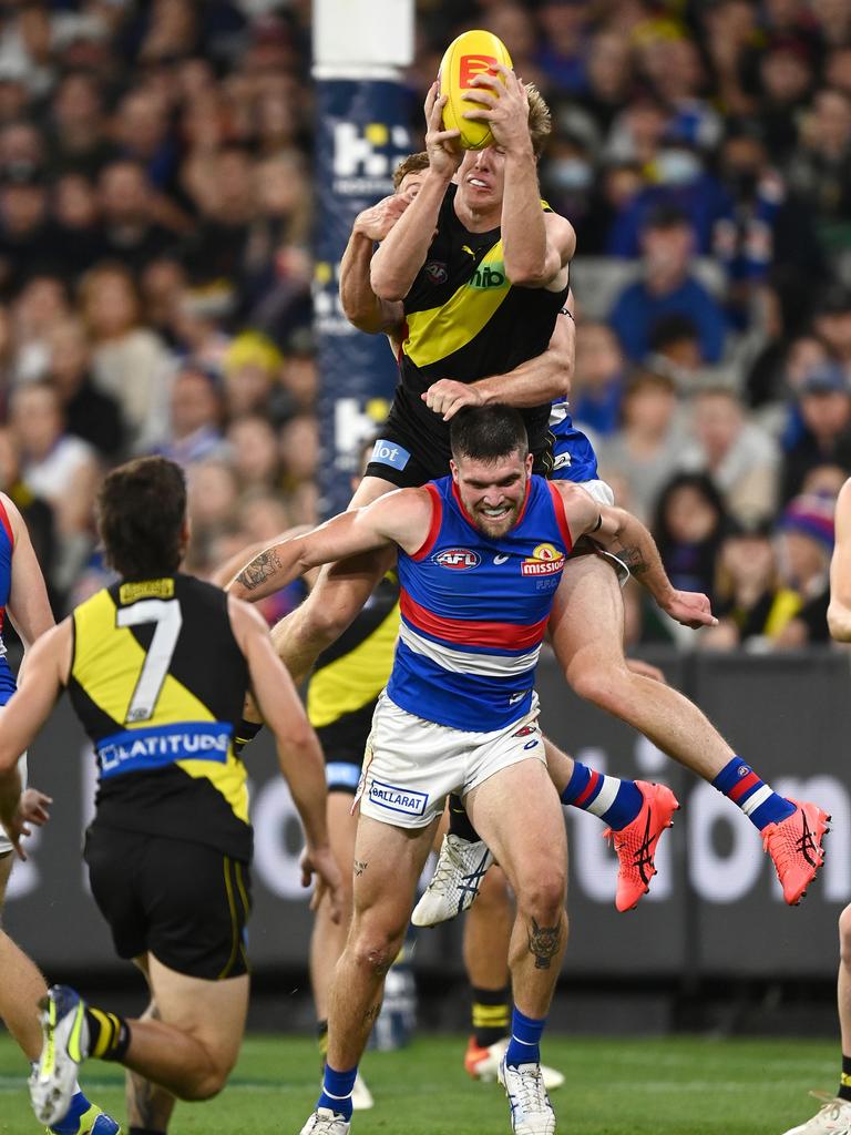
<path fill-rule="evenodd" d="M 352 508 L 296 536 L 273 544 L 247 563 L 228 583 L 239 599 L 256 603 L 286 587 L 310 568 L 398 544 L 415 552 L 431 524 L 427 489 L 397 489 L 365 508 Z"/>

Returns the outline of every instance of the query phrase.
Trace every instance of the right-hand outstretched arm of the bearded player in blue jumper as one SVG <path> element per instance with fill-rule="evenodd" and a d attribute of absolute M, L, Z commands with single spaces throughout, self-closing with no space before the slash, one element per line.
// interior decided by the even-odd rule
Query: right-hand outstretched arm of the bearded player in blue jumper
<path fill-rule="evenodd" d="M 709 599 L 698 591 L 679 591 L 667 577 L 659 549 L 640 520 L 624 508 L 600 505 L 576 485 L 554 484 L 564 501 L 564 512 L 575 544 L 580 536 L 595 543 L 625 564 L 630 573 L 646 587 L 658 606 L 672 619 L 694 630 L 715 627 Z"/>

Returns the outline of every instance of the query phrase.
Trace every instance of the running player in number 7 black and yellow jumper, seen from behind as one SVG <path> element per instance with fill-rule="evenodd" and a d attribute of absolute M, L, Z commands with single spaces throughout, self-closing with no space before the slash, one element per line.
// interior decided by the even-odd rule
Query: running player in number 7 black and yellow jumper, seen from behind
<path fill-rule="evenodd" d="M 144 457 L 113 470 L 99 511 L 120 579 L 31 651 L 3 716 L 0 823 L 19 850 L 16 760 L 67 687 L 100 773 L 85 847 L 92 892 L 119 957 L 144 972 L 152 1003 L 126 1020 L 53 986 L 41 1002 L 33 1109 L 42 1123 L 61 1120 L 78 1066 L 95 1057 L 125 1065 L 132 1090 L 157 1100 L 153 1120 L 130 1099 L 130 1133 L 165 1130 L 172 1096 L 203 1100 L 224 1087 L 245 1027 L 252 830 L 234 731 L 248 687 L 304 824 L 304 880 L 315 872 L 336 905 L 339 872 L 319 742 L 266 624 L 178 572 L 188 538 L 180 469 Z"/>

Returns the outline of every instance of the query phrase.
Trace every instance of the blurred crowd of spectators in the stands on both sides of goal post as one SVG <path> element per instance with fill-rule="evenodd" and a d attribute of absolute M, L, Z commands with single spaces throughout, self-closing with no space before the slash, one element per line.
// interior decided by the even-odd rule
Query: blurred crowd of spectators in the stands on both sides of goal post
<path fill-rule="evenodd" d="M 418 0 L 553 108 L 578 233 L 572 410 L 701 639 L 825 642 L 851 471 L 851 3 Z M 103 471 L 188 473 L 188 566 L 317 519 L 309 0 L 0 2 L 0 487 L 58 612 L 101 586 Z M 672 631 L 629 589 L 630 638 Z M 278 600 L 279 609 L 297 594 Z"/>

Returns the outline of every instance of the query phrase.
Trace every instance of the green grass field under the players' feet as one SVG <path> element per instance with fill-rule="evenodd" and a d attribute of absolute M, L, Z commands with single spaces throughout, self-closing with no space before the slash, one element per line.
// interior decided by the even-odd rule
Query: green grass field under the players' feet
<path fill-rule="evenodd" d="M 428 1036 L 402 1052 L 370 1052 L 363 1071 L 377 1103 L 353 1135 L 507 1135 L 502 1090 L 463 1071 L 461 1037 Z M 567 1074 L 553 1093 L 559 1135 L 780 1135 L 816 1110 L 812 1087 L 834 1090 L 839 1049 L 825 1041 L 546 1041 L 546 1060 Z M 90 1095 L 124 1118 L 120 1069 L 92 1062 Z M 216 1100 L 178 1104 L 171 1135 L 296 1135 L 318 1083 L 313 1043 L 250 1036 Z M 20 1056 L 0 1037 L 0 1133 L 37 1132 Z"/>

